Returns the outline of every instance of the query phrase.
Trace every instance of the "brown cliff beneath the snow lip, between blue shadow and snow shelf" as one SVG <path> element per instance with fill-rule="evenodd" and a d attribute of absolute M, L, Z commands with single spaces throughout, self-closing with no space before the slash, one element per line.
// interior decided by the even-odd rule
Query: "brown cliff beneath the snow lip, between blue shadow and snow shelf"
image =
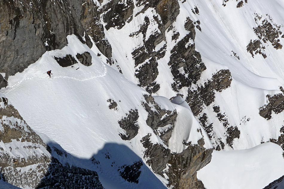
<path fill-rule="evenodd" d="M 202 182 L 196 182 L 196 171 L 203 168 L 211 160 L 213 149 L 206 150 L 200 145 L 189 145 L 182 153 L 172 153 L 161 144 L 150 142 L 149 135 L 142 138 L 141 142 L 146 148 L 144 158 L 149 159 L 147 164 L 154 173 L 161 176 L 166 174 L 169 179 L 168 187 L 174 188 L 199 188 Z M 201 187 L 202 188 L 202 187 Z"/>

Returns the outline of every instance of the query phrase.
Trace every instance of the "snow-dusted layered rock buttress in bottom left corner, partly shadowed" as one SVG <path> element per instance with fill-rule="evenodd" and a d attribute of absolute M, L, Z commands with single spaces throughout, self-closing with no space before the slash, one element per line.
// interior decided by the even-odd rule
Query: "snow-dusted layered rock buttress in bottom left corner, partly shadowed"
<path fill-rule="evenodd" d="M 63 165 L 4 96 L 0 98 L 1 179 L 21 188 L 103 188 L 95 171 Z M 75 181 L 75 182 L 74 182 Z"/>

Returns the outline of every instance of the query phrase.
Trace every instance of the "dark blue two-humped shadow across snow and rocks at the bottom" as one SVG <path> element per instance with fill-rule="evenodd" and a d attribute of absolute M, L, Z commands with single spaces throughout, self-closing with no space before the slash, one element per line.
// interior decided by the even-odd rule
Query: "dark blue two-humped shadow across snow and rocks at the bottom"
<path fill-rule="evenodd" d="M 49 143 L 52 158 L 39 188 L 166 188 L 129 147 L 107 143 L 90 159 Z"/>

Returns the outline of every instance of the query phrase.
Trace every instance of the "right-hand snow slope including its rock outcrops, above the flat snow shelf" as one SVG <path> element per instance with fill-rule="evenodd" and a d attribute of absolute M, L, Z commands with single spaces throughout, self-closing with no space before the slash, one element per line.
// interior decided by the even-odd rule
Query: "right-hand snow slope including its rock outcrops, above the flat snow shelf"
<path fill-rule="evenodd" d="M 240 130 L 234 149 L 267 141 L 283 143 L 283 94 L 279 91 L 283 86 L 283 1 L 191 3 L 199 8 L 194 17 L 200 20 L 202 32 L 197 31 L 195 42 L 204 64 L 210 70 L 216 69 L 216 63 L 222 65 L 233 77 L 231 87 L 216 96 L 214 104 L 226 116 L 223 125 Z M 243 5 L 238 8 L 239 3 Z M 209 111 L 207 122 L 215 130 L 212 108 Z"/>

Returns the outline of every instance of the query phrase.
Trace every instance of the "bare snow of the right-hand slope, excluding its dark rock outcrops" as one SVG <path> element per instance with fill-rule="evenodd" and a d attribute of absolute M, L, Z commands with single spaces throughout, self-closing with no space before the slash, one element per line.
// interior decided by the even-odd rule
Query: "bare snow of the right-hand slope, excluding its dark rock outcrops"
<path fill-rule="evenodd" d="M 233 140 L 233 149 L 249 149 L 261 142 L 278 139 L 283 126 L 283 112 L 272 113 L 272 119 L 266 120 L 259 116 L 259 107 L 267 104 L 267 94 L 282 93 L 279 87 L 284 84 L 284 48 L 276 50 L 271 42 L 262 42 L 263 52 L 267 55 L 264 59 L 260 54 L 253 58 L 247 52 L 247 45 L 250 40 L 259 39 L 253 28 L 261 25 L 264 19 L 284 30 L 284 1 L 251 0 L 240 8 L 236 8 L 236 1 L 227 1 L 225 7 L 223 2 L 193 0 L 186 1 L 181 7 L 190 10 L 196 6 L 199 9 L 199 14 L 188 13 L 193 21 L 201 22 L 202 32 L 196 29 L 195 38 L 196 50 L 207 68 L 201 73 L 201 81 L 206 82 L 220 69 L 229 69 L 232 74 L 231 86 L 221 93 L 216 92 L 215 101 L 203 111 L 208 122 L 213 123 L 214 138 L 221 138 L 225 150 L 232 149 L 226 145 L 226 130 L 213 112 L 213 106 L 218 105 L 221 113 L 226 113 L 230 125 L 236 125 L 240 131 L 239 139 Z M 256 24 L 257 14 L 262 19 Z M 280 43 L 284 44 L 281 36 Z M 232 51 L 240 59 L 235 58 Z"/>

